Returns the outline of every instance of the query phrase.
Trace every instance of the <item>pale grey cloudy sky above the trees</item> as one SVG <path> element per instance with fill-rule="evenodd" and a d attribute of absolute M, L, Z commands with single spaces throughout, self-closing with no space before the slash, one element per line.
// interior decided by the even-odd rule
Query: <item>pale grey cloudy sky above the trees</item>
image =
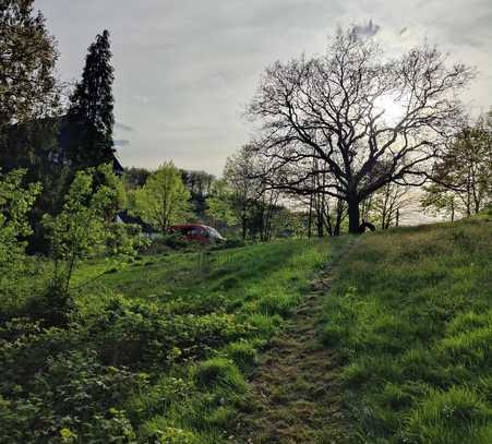
<path fill-rule="evenodd" d="M 395 55 L 428 39 L 478 70 L 463 100 L 492 106 L 492 0 L 36 0 L 58 40 L 59 75 L 81 76 L 96 34 L 111 33 L 115 139 L 123 166 L 219 176 L 253 127 L 242 116 L 265 68 L 322 53 L 356 25 Z"/>

